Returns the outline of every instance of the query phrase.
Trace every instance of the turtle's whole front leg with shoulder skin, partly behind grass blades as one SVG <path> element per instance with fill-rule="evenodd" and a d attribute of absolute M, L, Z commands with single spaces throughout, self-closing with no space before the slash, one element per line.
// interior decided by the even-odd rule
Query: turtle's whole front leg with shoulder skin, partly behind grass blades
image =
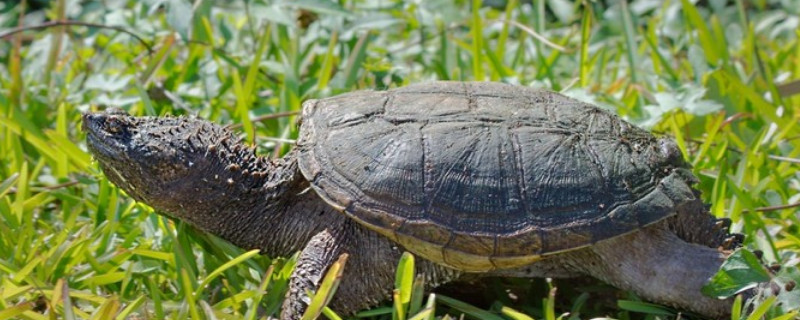
<path fill-rule="evenodd" d="M 340 315 L 352 315 L 384 301 L 392 292 L 402 252 L 394 242 L 352 220 L 318 233 L 300 253 L 289 280 L 281 319 L 302 317 L 310 303 L 306 292 L 318 288 L 328 267 L 342 253 L 349 254 L 347 266 L 328 306 Z M 461 275 L 461 272 L 423 259 L 417 261 L 416 271 L 424 275 L 428 289 Z"/>

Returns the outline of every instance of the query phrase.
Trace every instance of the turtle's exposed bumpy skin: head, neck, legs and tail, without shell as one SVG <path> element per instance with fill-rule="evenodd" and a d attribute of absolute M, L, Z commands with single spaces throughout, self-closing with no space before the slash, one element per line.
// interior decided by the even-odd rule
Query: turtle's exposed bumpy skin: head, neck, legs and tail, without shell
<path fill-rule="evenodd" d="M 297 151 L 281 159 L 260 157 L 228 130 L 191 118 L 108 111 L 84 115 L 83 127 L 107 177 L 136 200 L 243 248 L 270 256 L 301 251 L 283 319 L 302 315 L 308 303 L 305 292 L 317 287 L 341 253 L 350 258 L 331 307 L 349 314 L 384 300 L 401 252 L 415 251 L 322 200 L 300 172 Z M 704 297 L 700 288 L 725 256 L 719 247 L 724 247 L 728 225 L 710 217 L 696 197 L 685 196 L 674 208 L 676 215 L 638 231 L 482 274 L 590 275 L 651 301 L 722 317 L 730 311 L 730 301 Z M 417 272 L 429 288 L 463 274 L 425 259 Z"/>

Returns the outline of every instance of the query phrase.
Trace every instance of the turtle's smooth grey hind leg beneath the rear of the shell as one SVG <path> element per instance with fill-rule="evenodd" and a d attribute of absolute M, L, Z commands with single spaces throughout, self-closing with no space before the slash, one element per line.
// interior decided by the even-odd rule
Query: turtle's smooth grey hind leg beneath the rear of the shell
<path fill-rule="evenodd" d="M 656 225 L 569 253 L 565 262 L 646 300 L 721 318 L 730 314 L 731 299 L 707 297 L 700 290 L 725 256 Z"/>

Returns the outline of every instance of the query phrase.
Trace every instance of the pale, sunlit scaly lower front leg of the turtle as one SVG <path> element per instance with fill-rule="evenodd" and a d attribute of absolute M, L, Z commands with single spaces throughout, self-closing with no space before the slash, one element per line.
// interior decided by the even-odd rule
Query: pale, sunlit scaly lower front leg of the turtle
<path fill-rule="evenodd" d="M 282 320 L 297 320 L 311 303 L 307 292 L 315 292 L 328 267 L 342 253 L 341 241 L 328 229 L 316 234 L 300 252 L 289 278 L 289 291 L 281 309 Z"/>

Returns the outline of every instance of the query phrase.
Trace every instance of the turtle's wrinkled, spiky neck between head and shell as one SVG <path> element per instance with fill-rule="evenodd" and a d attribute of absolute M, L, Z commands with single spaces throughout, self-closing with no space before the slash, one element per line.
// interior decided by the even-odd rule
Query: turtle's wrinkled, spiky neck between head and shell
<path fill-rule="evenodd" d="M 190 183 L 163 192 L 165 201 L 148 201 L 156 210 L 245 249 L 287 256 L 317 232 L 322 222 L 341 221 L 310 189 L 294 152 L 269 160 L 238 143 L 209 147 L 194 165 Z M 329 219 L 310 219 L 311 215 Z M 328 221 L 320 221 L 328 220 Z"/>

